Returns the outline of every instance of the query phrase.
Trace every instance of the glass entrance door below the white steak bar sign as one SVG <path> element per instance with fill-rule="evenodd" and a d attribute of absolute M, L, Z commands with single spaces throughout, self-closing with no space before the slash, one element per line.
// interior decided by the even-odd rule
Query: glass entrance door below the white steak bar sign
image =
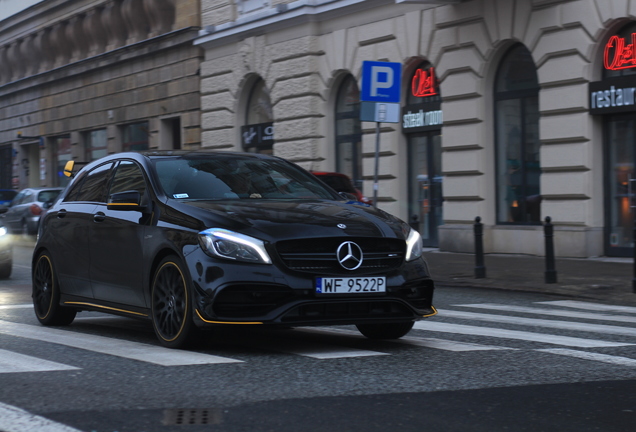
<path fill-rule="evenodd" d="M 442 139 L 439 131 L 409 135 L 409 222 L 424 245 L 438 247 L 443 224 Z"/>

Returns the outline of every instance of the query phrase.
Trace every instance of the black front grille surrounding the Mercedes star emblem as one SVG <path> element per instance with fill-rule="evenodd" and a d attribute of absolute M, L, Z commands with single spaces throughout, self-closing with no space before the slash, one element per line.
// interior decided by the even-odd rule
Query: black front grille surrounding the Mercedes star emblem
<path fill-rule="evenodd" d="M 344 241 L 352 241 L 362 249 L 362 265 L 347 270 L 338 262 L 337 250 Z M 322 238 L 287 240 L 276 244 L 276 251 L 290 270 L 323 274 L 372 274 L 398 268 L 406 249 L 404 240 L 385 238 Z"/>

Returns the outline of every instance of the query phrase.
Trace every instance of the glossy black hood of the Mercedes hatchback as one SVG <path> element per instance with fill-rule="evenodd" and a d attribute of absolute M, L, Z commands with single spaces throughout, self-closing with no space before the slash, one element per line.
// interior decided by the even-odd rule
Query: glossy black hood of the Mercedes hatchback
<path fill-rule="evenodd" d="M 294 238 L 405 238 L 396 217 L 357 202 L 328 200 L 232 200 L 179 203 L 181 211 L 212 227 L 239 231 L 266 241 Z"/>

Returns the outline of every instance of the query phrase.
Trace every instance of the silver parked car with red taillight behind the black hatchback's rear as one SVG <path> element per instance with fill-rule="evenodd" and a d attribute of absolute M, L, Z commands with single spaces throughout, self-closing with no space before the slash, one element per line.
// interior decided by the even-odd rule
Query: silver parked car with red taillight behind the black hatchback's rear
<path fill-rule="evenodd" d="M 55 201 L 63 188 L 22 189 L 9 204 L 4 214 L 5 226 L 11 234 L 35 235 L 38 232 L 40 216 Z"/>

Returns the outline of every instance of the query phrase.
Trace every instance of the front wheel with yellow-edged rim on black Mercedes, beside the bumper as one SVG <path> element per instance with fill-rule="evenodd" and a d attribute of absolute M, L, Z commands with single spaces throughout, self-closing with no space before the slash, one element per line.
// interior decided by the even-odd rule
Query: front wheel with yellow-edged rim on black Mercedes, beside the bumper
<path fill-rule="evenodd" d="M 191 289 L 181 260 L 167 256 L 152 278 L 152 325 L 161 344 L 168 348 L 186 348 L 198 336 L 192 320 Z"/>

